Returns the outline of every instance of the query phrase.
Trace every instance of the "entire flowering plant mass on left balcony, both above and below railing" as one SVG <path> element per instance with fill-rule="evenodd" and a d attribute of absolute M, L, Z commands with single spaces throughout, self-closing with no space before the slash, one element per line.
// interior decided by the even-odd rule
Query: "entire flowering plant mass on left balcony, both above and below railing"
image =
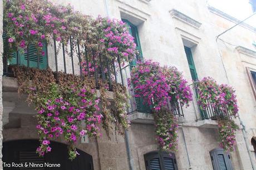
<path fill-rule="evenodd" d="M 11 53 L 16 51 L 26 53 L 31 44 L 38 49 L 38 56 L 44 56 L 43 43 L 54 40 L 59 48 L 62 44 L 70 45 L 71 51 L 65 48 L 70 56 L 81 47 L 79 57 L 85 60 L 79 63 L 81 77 L 61 72 L 53 76 L 50 69 L 13 68 L 19 93 L 28 93 L 27 101 L 34 103 L 38 111 L 41 146 L 37 152 L 41 155 L 50 152 L 50 139 L 62 134 L 70 147 L 70 159 L 73 159 L 77 154 L 74 143 L 83 134 L 100 136 L 99 123 L 103 124 L 109 137 L 111 123 L 115 124 L 117 132 L 124 134 L 129 127 L 126 116 L 128 96 L 125 87 L 113 81 L 116 76 L 113 67 L 117 62 L 131 61 L 137 53 L 126 24 L 100 16 L 92 19 L 74 11 L 71 6 L 56 5 L 47 0 L 6 0 L 3 13 L 4 56 L 11 57 Z M 103 69 L 102 64 L 107 69 Z M 101 70 L 97 71 L 99 67 Z M 112 108 L 106 96 L 108 87 L 105 79 L 97 79 L 96 84 L 92 81 L 99 74 L 101 77 L 107 74 L 108 85 L 112 85 L 115 98 Z M 102 113 L 98 107 L 96 87 L 100 87 Z"/>

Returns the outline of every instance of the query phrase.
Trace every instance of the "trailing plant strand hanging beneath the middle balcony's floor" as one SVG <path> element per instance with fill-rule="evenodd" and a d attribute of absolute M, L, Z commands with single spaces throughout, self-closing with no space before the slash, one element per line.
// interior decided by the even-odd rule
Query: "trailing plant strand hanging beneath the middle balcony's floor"
<path fill-rule="evenodd" d="M 160 149 L 166 152 L 176 151 L 178 147 L 178 124 L 169 109 L 161 108 L 154 113 L 156 140 Z"/>

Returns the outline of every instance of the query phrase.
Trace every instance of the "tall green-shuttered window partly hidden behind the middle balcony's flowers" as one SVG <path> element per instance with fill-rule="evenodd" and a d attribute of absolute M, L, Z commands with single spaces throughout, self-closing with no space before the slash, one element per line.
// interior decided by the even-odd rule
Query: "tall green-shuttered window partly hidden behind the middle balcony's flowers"
<path fill-rule="evenodd" d="M 129 27 L 129 32 L 134 37 L 134 42 L 136 43 L 136 49 L 139 51 L 139 56 L 134 59 L 134 61 L 130 62 L 130 70 L 132 67 L 136 66 L 136 61 L 139 59 L 142 59 L 142 51 L 141 51 L 141 46 L 140 46 L 140 38 L 139 38 L 139 33 L 137 27 L 129 22 L 127 19 L 122 19 L 123 22 L 125 22 Z M 136 108 L 137 111 L 142 112 L 142 113 L 151 113 L 151 108 L 147 104 L 143 104 L 143 99 L 140 97 L 135 97 L 135 103 L 136 103 Z"/>

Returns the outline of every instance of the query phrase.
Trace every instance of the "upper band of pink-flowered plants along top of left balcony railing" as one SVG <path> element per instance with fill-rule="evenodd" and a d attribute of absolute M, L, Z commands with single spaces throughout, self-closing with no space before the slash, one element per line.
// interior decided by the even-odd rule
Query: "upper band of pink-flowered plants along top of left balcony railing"
<path fill-rule="evenodd" d="M 52 39 L 60 42 L 59 47 L 62 43 L 65 46 L 71 43 L 74 52 L 77 44 L 100 51 L 111 62 L 131 61 L 137 53 L 124 22 L 100 16 L 92 19 L 74 11 L 71 6 L 56 5 L 47 0 L 5 0 L 3 29 L 7 38 L 4 46 L 7 56 L 17 49 L 26 52 L 29 44 L 34 44 L 44 56 L 43 43 L 51 43 Z M 95 57 L 99 62 L 99 53 Z"/>

